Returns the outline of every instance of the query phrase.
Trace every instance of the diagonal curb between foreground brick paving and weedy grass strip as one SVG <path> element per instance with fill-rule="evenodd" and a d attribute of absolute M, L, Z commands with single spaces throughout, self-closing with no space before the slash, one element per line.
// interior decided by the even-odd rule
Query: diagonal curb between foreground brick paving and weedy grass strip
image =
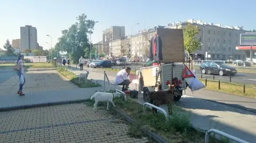
<path fill-rule="evenodd" d="M 121 115 L 126 121 L 130 122 L 131 124 L 137 124 L 137 122 L 134 121 L 131 116 L 127 115 L 123 111 L 118 110 L 117 108 L 115 108 L 113 106 L 110 106 L 110 109 L 113 110 L 115 112 L 115 114 Z M 149 137 L 153 138 L 157 142 L 168 143 L 167 140 L 165 140 L 162 136 L 159 136 L 157 133 L 155 133 L 153 131 L 150 131 L 147 129 L 141 129 L 141 130 L 143 130 Z"/>

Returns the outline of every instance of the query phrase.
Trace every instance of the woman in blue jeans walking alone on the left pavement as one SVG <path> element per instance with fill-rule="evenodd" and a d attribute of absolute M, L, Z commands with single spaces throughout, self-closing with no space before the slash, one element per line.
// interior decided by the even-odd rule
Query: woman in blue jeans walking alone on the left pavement
<path fill-rule="evenodd" d="M 18 60 L 17 60 L 17 65 L 18 65 L 18 76 L 19 76 L 19 85 L 20 88 L 17 92 L 17 94 L 19 94 L 20 96 L 24 96 L 25 94 L 23 94 L 22 90 L 23 90 L 23 86 L 25 85 L 25 76 L 24 76 L 24 56 L 23 55 L 19 55 Z"/>

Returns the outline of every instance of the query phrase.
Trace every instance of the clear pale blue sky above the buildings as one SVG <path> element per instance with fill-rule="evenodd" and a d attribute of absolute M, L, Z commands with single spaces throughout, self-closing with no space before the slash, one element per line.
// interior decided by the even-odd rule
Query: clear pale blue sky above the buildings
<path fill-rule="evenodd" d="M 0 47 L 20 38 L 20 27 L 37 28 L 40 46 L 48 49 L 58 42 L 61 30 L 68 29 L 76 17 L 99 21 L 92 34 L 93 43 L 102 40 L 102 31 L 111 26 L 125 26 L 125 34 L 167 23 L 196 19 L 256 29 L 255 0 L 0 0 Z M 133 26 L 135 23 L 140 23 Z M 45 42 L 49 43 L 46 44 Z"/>

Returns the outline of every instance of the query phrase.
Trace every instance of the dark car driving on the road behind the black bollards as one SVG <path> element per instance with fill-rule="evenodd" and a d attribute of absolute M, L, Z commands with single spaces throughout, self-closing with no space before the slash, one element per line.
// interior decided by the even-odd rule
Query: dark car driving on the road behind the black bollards
<path fill-rule="evenodd" d="M 234 66 L 223 62 L 206 61 L 200 65 L 202 74 L 235 75 L 237 73 Z"/>

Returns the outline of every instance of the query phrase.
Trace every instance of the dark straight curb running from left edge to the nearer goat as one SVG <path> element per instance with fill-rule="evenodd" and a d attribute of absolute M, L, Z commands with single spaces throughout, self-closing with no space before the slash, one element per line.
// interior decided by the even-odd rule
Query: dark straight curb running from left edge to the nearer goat
<path fill-rule="evenodd" d="M 83 102 L 87 102 L 88 100 L 90 100 L 90 99 L 79 99 L 79 100 L 69 100 L 69 101 L 63 101 L 63 102 L 51 102 L 51 103 L 21 105 L 21 106 L 13 106 L 13 107 L 3 107 L 3 108 L 0 108 L 0 112 L 3 112 L 3 111 L 13 111 L 13 110 L 21 110 L 21 109 L 35 108 L 35 107 L 44 107 L 44 106 L 54 106 L 54 105 L 63 105 L 63 104 L 83 103 Z"/>

